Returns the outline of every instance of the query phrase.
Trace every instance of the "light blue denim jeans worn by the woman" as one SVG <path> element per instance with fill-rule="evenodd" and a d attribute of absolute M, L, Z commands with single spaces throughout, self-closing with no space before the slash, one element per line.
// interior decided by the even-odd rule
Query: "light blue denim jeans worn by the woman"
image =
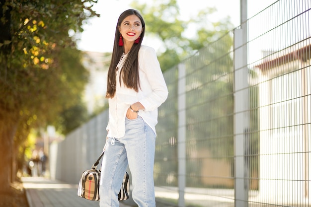
<path fill-rule="evenodd" d="M 109 138 L 101 166 L 100 207 L 119 207 L 118 194 L 129 165 L 132 198 L 139 207 L 156 207 L 156 135 L 141 117 L 125 120 L 125 136 Z"/>

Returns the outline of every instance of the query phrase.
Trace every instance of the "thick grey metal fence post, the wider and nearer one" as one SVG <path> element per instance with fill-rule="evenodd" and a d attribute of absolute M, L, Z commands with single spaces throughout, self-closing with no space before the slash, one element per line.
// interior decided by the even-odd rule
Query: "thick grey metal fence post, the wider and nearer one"
<path fill-rule="evenodd" d="M 247 53 L 243 41 L 243 29 L 234 30 L 234 207 L 248 206 L 247 150 L 248 130 L 248 82 Z M 246 51 L 247 52 L 247 51 Z M 245 64 L 246 62 L 246 64 Z"/>

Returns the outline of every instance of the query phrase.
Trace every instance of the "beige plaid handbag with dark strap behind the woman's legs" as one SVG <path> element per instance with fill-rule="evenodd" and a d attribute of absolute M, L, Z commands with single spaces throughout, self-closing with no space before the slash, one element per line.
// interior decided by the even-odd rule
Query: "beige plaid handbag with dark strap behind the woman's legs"
<path fill-rule="evenodd" d="M 99 182 L 100 182 L 100 170 L 97 170 L 96 167 L 99 163 L 99 160 L 104 155 L 103 151 L 97 161 L 93 164 L 92 169 L 85 170 L 82 173 L 82 176 L 78 185 L 78 196 L 91 201 L 99 201 Z M 130 181 L 129 174 L 124 173 L 122 186 L 120 193 L 118 194 L 119 201 L 129 199 L 130 194 Z"/>

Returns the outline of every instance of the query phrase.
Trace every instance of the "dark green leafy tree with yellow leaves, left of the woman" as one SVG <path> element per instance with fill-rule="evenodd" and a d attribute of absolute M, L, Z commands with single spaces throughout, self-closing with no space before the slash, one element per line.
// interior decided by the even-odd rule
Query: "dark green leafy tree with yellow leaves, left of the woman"
<path fill-rule="evenodd" d="M 96 15 L 95 2 L 0 0 L 0 192 L 9 191 L 29 130 L 80 102 L 88 73 L 69 32 Z"/>

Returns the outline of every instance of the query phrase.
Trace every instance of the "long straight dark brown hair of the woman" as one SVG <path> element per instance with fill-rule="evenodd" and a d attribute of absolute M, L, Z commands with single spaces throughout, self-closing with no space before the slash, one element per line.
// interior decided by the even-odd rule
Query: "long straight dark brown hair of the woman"
<path fill-rule="evenodd" d="M 127 54 L 127 58 L 125 59 L 124 65 L 122 67 L 120 78 L 122 77 L 124 85 L 128 88 L 133 88 L 135 91 L 138 91 L 140 87 L 139 83 L 139 73 L 138 73 L 138 52 L 142 45 L 142 41 L 145 34 L 145 21 L 139 11 L 135 9 L 128 9 L 125 10 L 123 13 L 120 14 L 118 23 L 116 26 L 116 32 L 114 36 L 114 44 L 113 44 L 113 51 L 111 57 L 111 63 L 108 70 L 108 77 L 107 77 L 107 92 L 106 98 L 113 98 L 116 93 L 116 67 L 120 61 L 121 56 L 124 53 L 124 46 L 119 46 L 119 38 L 120 38 L 120 31 L 119 26 L 121 25 L 122 21 L 129 15 L 136 15 L 140 18 L 142 22 L 142 33 L 141 39 L 138 44 L 134 44 L 131 50 Z"/>

